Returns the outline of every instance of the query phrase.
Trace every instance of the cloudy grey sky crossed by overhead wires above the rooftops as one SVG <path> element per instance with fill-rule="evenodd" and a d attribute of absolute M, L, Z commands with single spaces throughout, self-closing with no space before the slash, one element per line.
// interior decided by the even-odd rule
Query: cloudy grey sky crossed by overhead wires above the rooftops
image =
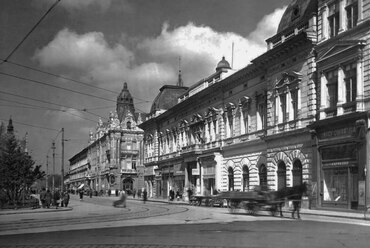
<path fill-rule="evenodd" d="M 49 174 L 60 172 L 61 129 L 68 170 L 124 82 L 147 113 L 179 69 L 185 86 L 223 56 L 239 70 L 266 51 L 291 0 L 61 0 L 42 19 L 55 2 L 0 0 L 0 122 L 12 118 L 17 137 L 27 133 Z"/>

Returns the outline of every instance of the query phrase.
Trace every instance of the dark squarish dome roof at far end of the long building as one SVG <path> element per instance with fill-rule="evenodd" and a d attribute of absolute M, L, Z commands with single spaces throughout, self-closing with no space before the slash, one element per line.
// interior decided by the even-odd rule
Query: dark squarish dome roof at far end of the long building
<path fill-rule="evenodd" d="M 172 108 L 177 104 L 178 98 L 183 95 L 187 89 L 187 87 L 182 86 L 164 85 L 160 88 L 159 94 L 154 99 L 150 113 Z"/>

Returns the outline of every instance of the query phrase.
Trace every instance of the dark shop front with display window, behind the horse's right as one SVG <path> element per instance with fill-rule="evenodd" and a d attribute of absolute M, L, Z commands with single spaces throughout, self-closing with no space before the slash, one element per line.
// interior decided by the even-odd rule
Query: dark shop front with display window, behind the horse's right
<path fill-rule="evenodd" d="M 362 209 L 365 204 L 365 121 L 357 115 L 316 126 L 318 202 L 321 207 Z"/>

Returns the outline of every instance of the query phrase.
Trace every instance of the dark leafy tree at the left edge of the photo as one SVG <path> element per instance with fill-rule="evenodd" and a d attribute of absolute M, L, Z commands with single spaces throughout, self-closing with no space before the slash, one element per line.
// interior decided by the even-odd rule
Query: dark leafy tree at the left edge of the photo
<path fill-rule="evenodd" d="M 35 165 L 31 156 L 22 151 L 14 135 L 3 139 L 0 151 L 0 188 L 8 201 L 17 206 L 20 196 L 38 179 L 45 176 L 41 165 Z"/>

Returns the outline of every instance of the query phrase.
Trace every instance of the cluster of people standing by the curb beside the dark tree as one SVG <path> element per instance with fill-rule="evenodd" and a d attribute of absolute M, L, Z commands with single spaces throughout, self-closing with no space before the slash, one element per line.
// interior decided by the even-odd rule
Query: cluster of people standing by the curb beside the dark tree
<path fill-rule="evenodd" d="M 50 206 L 58 208 L 59 204 L 61 207 L 68 207 L 69 198 L 68 191 L 50 191 L 49 189 L 46 190 L 45 188 L 42 188 L 40 192 L 40 202 L 42 208 L 50 208 Z"/>

